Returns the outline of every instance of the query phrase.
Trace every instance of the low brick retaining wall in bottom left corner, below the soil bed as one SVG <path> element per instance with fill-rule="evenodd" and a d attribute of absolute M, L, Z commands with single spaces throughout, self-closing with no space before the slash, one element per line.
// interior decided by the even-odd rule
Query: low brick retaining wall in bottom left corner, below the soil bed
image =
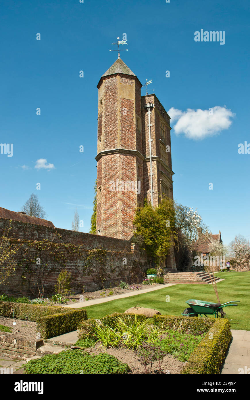
<path fill-rule="evenodd" d="M 36 355 L 36 350 L 43 346 L 44 341 L 27 340 L 13 333 L 0 332 L 0 357 L 9 357 L 18 360 L 31 358 Z"/>

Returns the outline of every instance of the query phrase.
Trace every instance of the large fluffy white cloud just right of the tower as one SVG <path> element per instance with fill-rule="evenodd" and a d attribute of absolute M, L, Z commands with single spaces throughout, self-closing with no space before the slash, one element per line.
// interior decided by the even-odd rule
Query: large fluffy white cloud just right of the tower
<path fill-rule="evenodd" d="M 207 136 L 215 135 L 221 130 L 228 129 L 232 124 L 230 118 L 235 115 L 226 106 L 215 106 L 210 108 L 210 111 L 200 110 L 200 108 L 197 110 L 188 108 L 187 111 L 181 111 L 171 107 L 168 114 L 171 117 L 171 121 L 177 120 L 173 127 L 175 133 L 184 133 L 189 139 L 204 139 Z"/>

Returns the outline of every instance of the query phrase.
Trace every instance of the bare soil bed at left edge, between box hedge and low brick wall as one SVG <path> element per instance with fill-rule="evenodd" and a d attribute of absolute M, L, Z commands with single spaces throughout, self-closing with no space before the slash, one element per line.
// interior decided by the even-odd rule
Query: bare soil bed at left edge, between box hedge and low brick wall
<path fill-rule="evenodd" d="M 16 325 L 13 325 L 13 322 L 16 322 Z M 16 333 L 18 336 L 23 336 L 27 339 L 36 339 L 36 322 L 28 321 L 26 326 L 26 321 L 16 318 L 0 317 L 0 325 L 8 326 L 8 328 L 12 330 L 12 333 Z M 10 332 L 5 333 L 8 334 Z"/>

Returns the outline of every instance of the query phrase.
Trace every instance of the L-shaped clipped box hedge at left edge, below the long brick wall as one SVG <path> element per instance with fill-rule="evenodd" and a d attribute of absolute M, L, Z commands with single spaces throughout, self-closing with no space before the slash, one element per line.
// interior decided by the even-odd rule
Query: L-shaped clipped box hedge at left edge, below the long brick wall
<path fill-rule="evenodd" d="M 44 339 L 62 335 L 77 329 L 82 320 L 87 320 L 86 310 L 45 306 L 40 304 L 12 303 L 0 301 L 0 315 L 37 323 L 37 329 Z"/>

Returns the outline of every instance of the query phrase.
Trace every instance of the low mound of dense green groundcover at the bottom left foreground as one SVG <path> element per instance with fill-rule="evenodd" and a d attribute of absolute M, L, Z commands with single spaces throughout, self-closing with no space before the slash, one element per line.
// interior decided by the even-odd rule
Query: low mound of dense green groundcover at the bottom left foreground
<path fill-rule="evenodd" d="M 25 374 L 127 374 L 129 367 L 107 353 L 97 356 L 82 350 L 65 350 L 30 360 L 24 366 Z"/>

